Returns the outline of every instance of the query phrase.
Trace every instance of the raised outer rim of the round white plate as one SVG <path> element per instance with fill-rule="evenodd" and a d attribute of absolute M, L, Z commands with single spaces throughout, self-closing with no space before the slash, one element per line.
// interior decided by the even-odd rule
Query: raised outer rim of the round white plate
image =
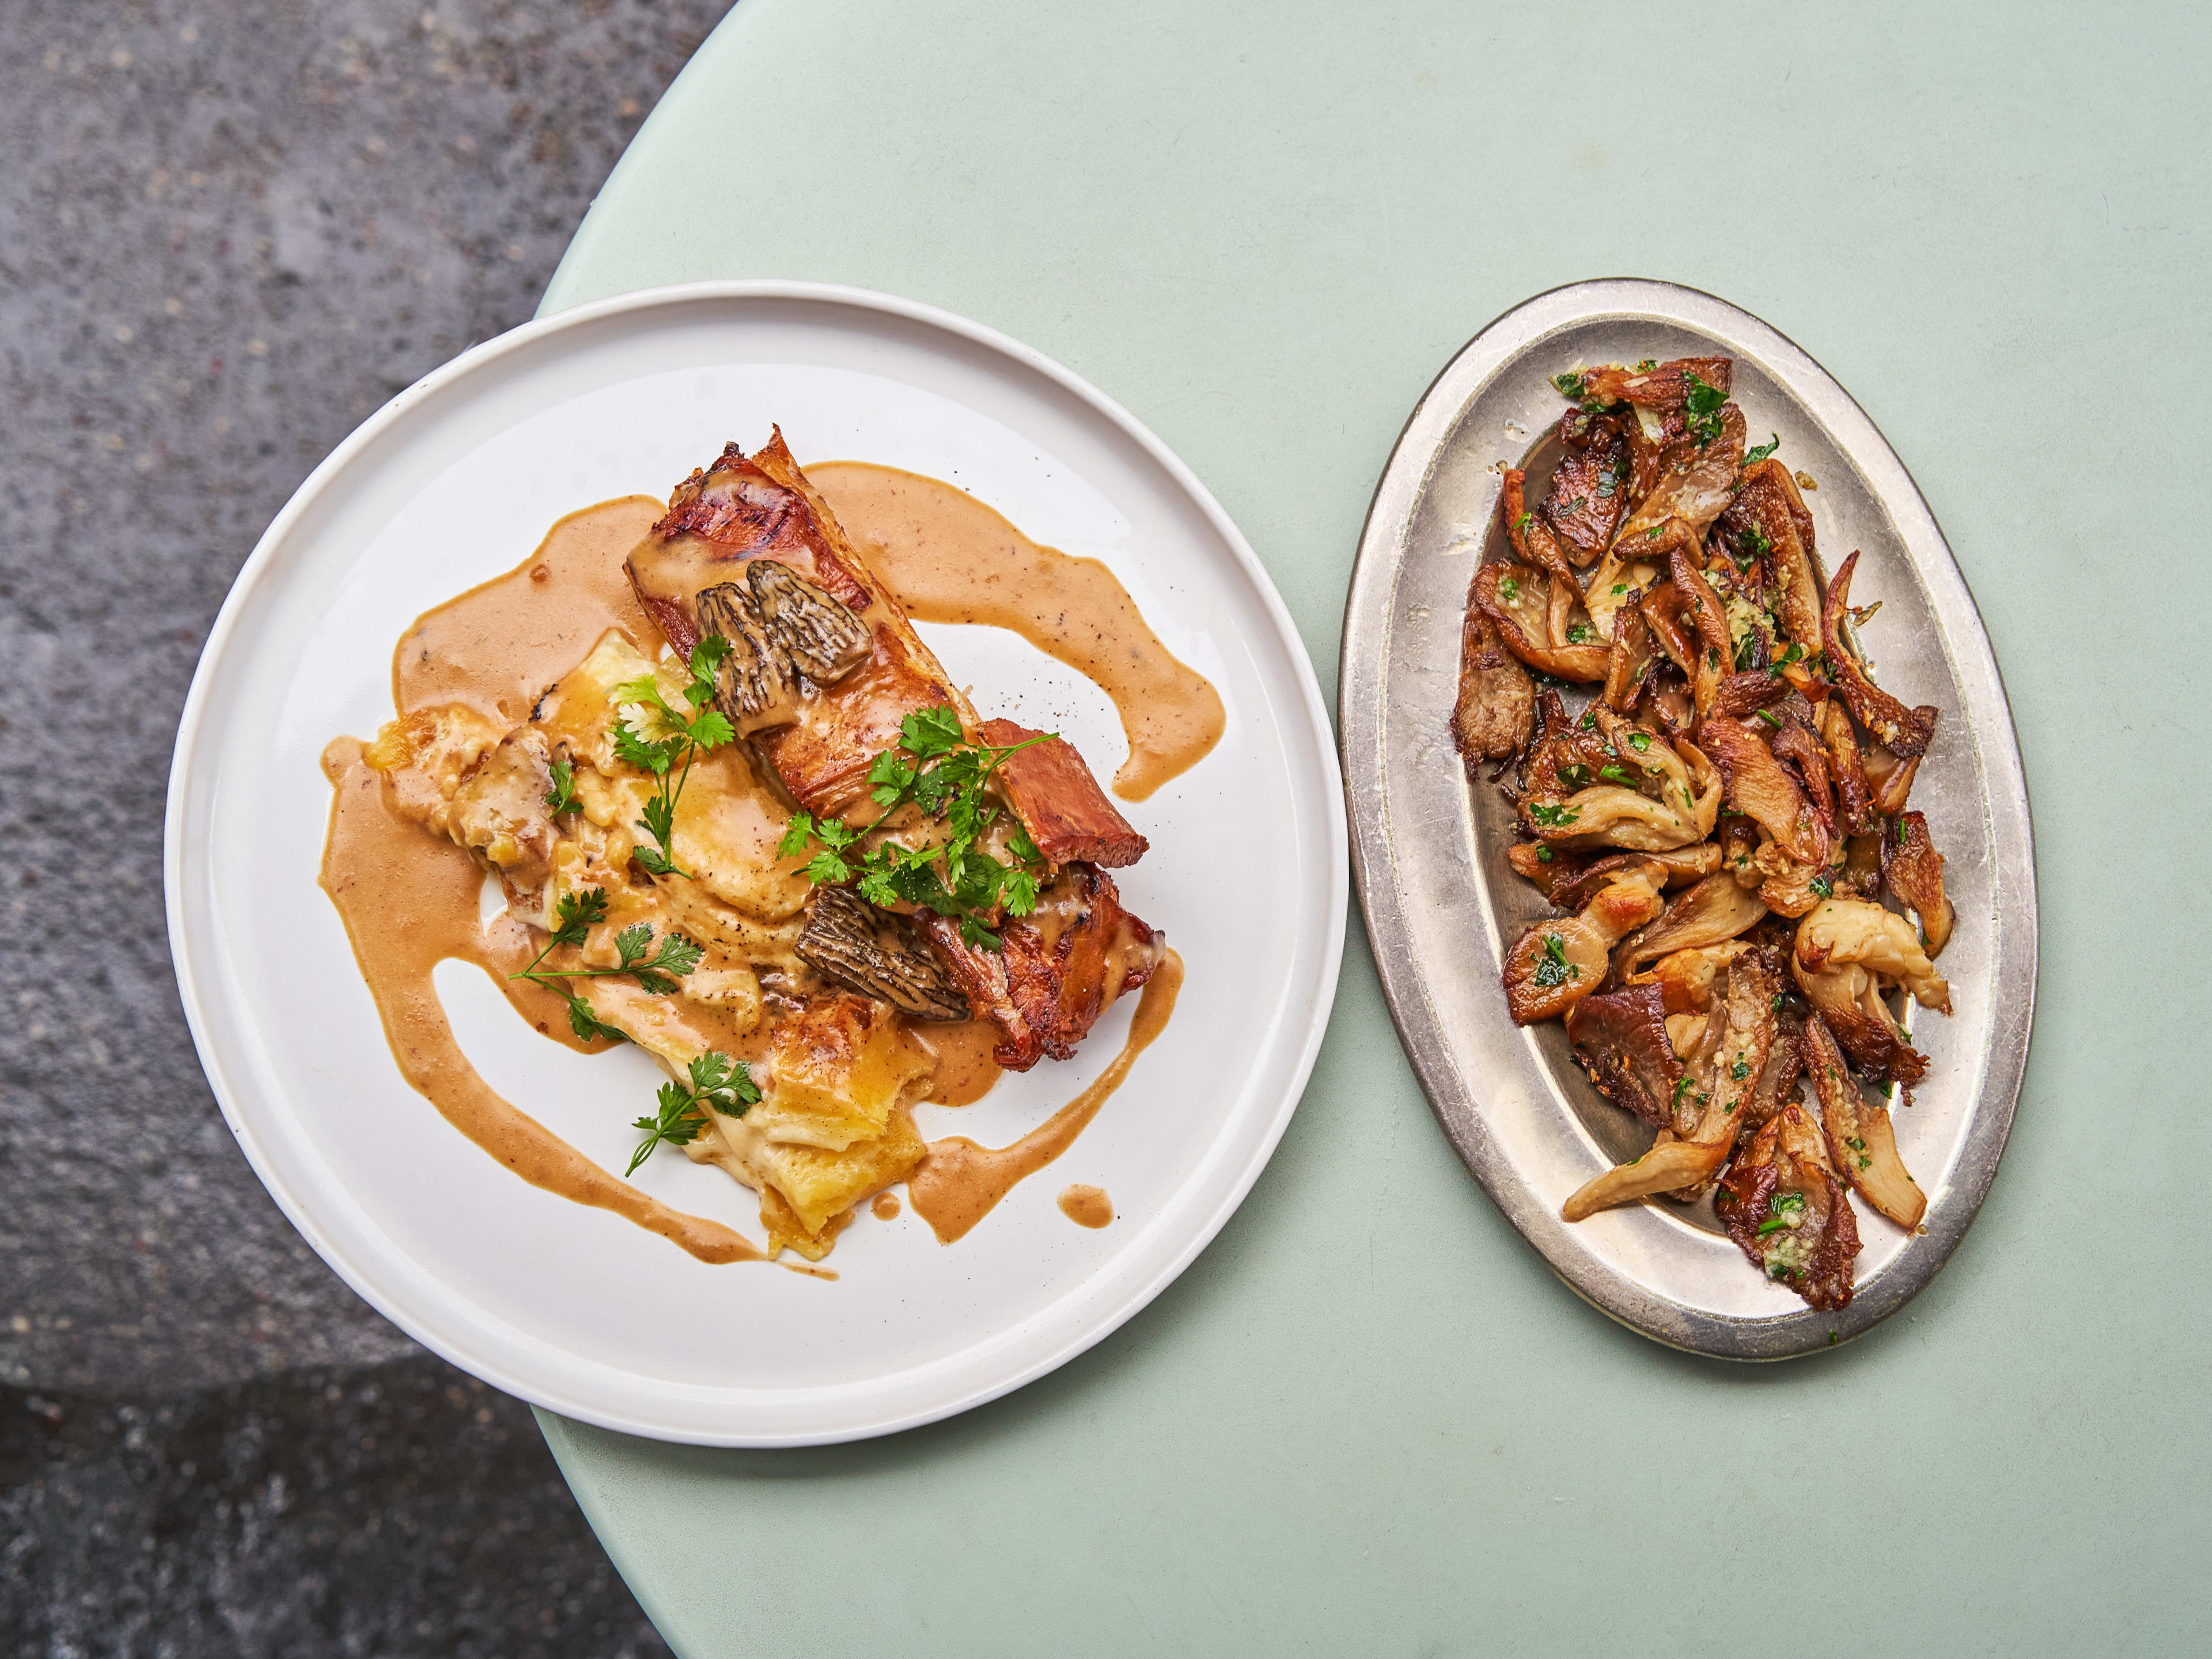
<path fill-rule="evenodd" d="M 1325 887 L 1325 916 L 1323 929 L 1316 945 L 1316 971 L 1307 984 L 1294 984 L 1292 995 L 1281 1006 L 1281 1013 L 1290 1015 L 1287 1024 L 1296 1022 L 1296 1002 L 1310 998 L 1312 1015 L 1303 1020 L 1303 1029 L 1296 1035 L 1296 1055 L 1287 1071 L 1287 1082 L 1281 1102 L 1263 1119 L 1261 1133 L 1252 1139 L 1243 1155 L 1241 1166 L 1234 1168 L 1230 1181 L 1225 1183 L 1221 1197 L 1214 1206 L 1197 1214 L 1188 1228 L 1181 1243 L 1166 1254 L 1148 1274 L 1128 1285 L 1117 1296 L 1099 1310 L 1068 1310 L 1079 1314 L 1079 1318 L 1068 1318 L 1062 1314 L 1062 1323 L 1073 1327 L 1062 1332 L 1057 1340 L 1051 1340 L 1040 1354 L 1009 1367 L 1000 1376 L 991 1376 L 971 1387 L 951 1391 L 942 1400 L 918 1405 L 911 1409 L 887 1411 L 880 1416 L 856 1416 L 849 1422 L 838 1422 L 832 1427 L 801 1427 L 801 1429 L 779 1429 L 779 1431 L 748 1431 L 743 1427 L 728 1429 L 710 1425 L 710 1420 L 699 1413 L 695 1422 L 675 1422 L 661 1418 L 648 1418 L 633 1411 L 617 1411 L 599 1405 L 591 1398 L 580 1398 L 573 1387 L 546 1387 L 542 1378 L 520 1376 L 515 1367 L 489 1358 L 487 1354 L 471 1352 L 465 1340 L 449 1336 L 445 1329 L 436 1329 L 427 1316 L 418 1316 L 407 1305 L 396 1305 L 394 1298 L 383 1294 L 358 1261 L 354 1252 L 332 1239 L 332 1234 L 316 1221 L 307 1199 L 292 1190 L 292 1183 L 276 1168 L 270 1148 L 261 1141 L 252 1124 L 239 1110 L 241 1082 L 230 1073 L 221 1060 L 221 1051 L 215 1042 L 217 1015 L 212 1004 L 217 1004 L 219 987 L 215 980 L 221 978 L 221 967 L 217 962 L 217 947 L 212 940 L 195 942 L 190 918 L 186 916 L 188 902 L 188 872 L 186 872 L 186 836 L 195 823 L 195 807 L 190 801 L 192 781 L 201 761 L 204 730 L 208 719 L 210 699 L 215 695 L 212 681 L 219 672 L 219 664 L 237 648 L 246 646 L 241 641 L 239 628 L 241 617 L 248 611 L 252 597 L 272 580 L 272 566 L 292 538 L 294 526 L 303 520 L 325 491 L 334 489 L 336 482 L 352 471 L 356 460 L 369 451 L 387 431 L 398 427 L 414 409 L 438 398 L 449 387 L 467 380 L 518 352 L 529 352 L 546 341 L 555 341 L 562 334 L 584 334 L 611 319 L 622 319 L 633 312 L 655 312 L 655 310 L 679 310 L 697 305 L 807 305 L 807 307 L 847 307 L 854 312 L 867 312 L 876 316 L 896 319 L 900 323 L 920 325 L 925 330 L 936 330 L 940 334 L 953 336 L 971 347 L 982 347 L 987 354 L 1004 358 L 1015 372 L 1029 372 L 1042 376 L 1044 380 L 1057 385 L 1062 392 L 1071 394 L 1077 403 L 1086 405 L 1093 414 L 1102 416 L 1121 438 L 1137 445 L 1137 449 L 1155 462 L 1172 482 L 1172 487 L 1197 507 L 1199 515 L 1221 538 L 1223 546 L 1230 551 L 1241 575 L 1254 588 L 1267 624 L 1274 633 L 1274 644 L 1283 648 L 1292 677 L 1298 681 L 1298 706 L 1296 714 L 1290 710 L 1279 710 L 1285 719 L 1285 728 L 1298 737 L 1301 743 L 1312 748 L 1312 759 L 1321 770 L 1318 790 L 1314 796 L 1314 810 L 1318 816 L 1318 872 L 1301 872 L 1303 876 L 1318 874 Z M 1301 721 L 1303 717 L 1303 730 Z M 650 1440 L 664 1440 L 672 1444 L 699 1444 L 699 1447 L 801 1447 L 801 1444 L 841 1444 L 849 1440 L 867 1440 L 885 1433 L 898 1433 L 902 1429 L 914 1429 L 927 1422 L 938 1422 L 942 1418 L 958 1416 L 973 1407 L 998 1400 L 1040 1376 L 1048 1376 L 1075 1356 L 1102 1343 L 1124 1323 L 1135 1318 L 1144 1307 L 1148 1307 L 1168 1285 L 1172 1285 L 1186 1267 L 1219 1237 L 1228 1219 L 1237 1214 L 1250 1194 L 1252 1186 L 1259 1181 L 1261 1172 L 1274 1157 L 1283 1133 L 1290 1128 L 1290 1119 L 1303 1104 L 1305 1091 L 1312 1082 L 1314 1064 L 1321 1053 L 1321 1042 L 1329 1026 L 1329 1015 L 1336 1002 L 1338 975 L 1343 969 L 1345 953 L 1345 929 L 1349 925 L 1349 825 L 1343 810 L 1343 770 L 1338 765 L 1338 750 L 1332 734 L 1329 708 L 1321 695 L 1321 679 L 1314 670 L 1312 653 L 1305 648 L 1305 639 L 1298 633 L 1296 622 L 1290 615 L 1290 606 L 1283 599 L 1281 588 L 1276 588 L 1274 577 L 1261 562 L 1259 553 L 1245 540 L 1243 531 L 1228 515 L 1212 491 L 1199 480 L 1199 476 L 1177 456 L 1157 434 L 1152 434 L 1141 420 L 1137 420 L 1128 409 L 1124 409 L 1115 398 L 1106 396 L 1102 389 L 1091 385 L 1086 378 L 1068 369 L 1066 365 L 1048 358 L 1022 341 L 993 330 L 973 319 L 960 316 L 956 312 L 942 310 L 938 305 L 927 305 L 922 301 L 902 299 L 898 294 L 885 294 L 869 288 L 854 288 L 845 283 L 816 283 L 816 281 L 794 281 L 794 279 L 714 279 L 714 281 L 692 281 L 692 283 L 664 283 L 655 288 L 639 288 L 624 294 L 613 294 L 608 299 L 588 301 L 560 312 L 535 316 L 520 323 L 504 334 L 489 341 L 480 341 L 467 352 L 453 356 L 451 361 L 438 365 L 420 380 L 411 383 L 394 398 L 389 398 L 380 409 L 376 409 L 367 420 L 363 420 L 354 431 L 349 431 L 310 473 L 301 480 L 299 489 L 285 500 L 285 504 L 270 520 L 268 529 L 254 542 L 252 553 L 239 566 L 230 591 L 223 595 L 223 604 L 217 611 L 215 624 L 208 630 L 208 639 L 201 646 L 199 661 L 192 670 L 192 684 L 184 699 L 184 710 L 177 719 L 177 741 L 170 757 L 166 803 L 164 803 L 164 825 L 161 825 L 161 889 L 164 889 L 164 916 L 168 927 L 170 964 L 177 975 L 177 998 L 184 1004 L 186 1026 L 192 1033 L 192 1046 L 199 1055 L 201 1073 L 208 1079 L 208 1088 L 223 1115 L 223 1124 L 230 1128 L 232 1139 L 237 1139 L 239 1150 L 252 1166 L 254 1177 L 276 1201 L 285 1219 L 299 1230 L 307 1245 L 323 1259 L 323 1263 L 347 1283 L 354 1294 L 369 1303 L 378 1314 L 398 1325 L 411 1340 L 429 1347 L 434 1354 L 453 1363 L 456 1367 L 469 1371 L 471 1376 L 491 1383 L 493 1387 L 513 1394 L 531 1402 L 533 1407 L 555 1411 L 560 1416 L 573 1418 L 577 1422 L 591 1422 L 602 1429 L 617 1433 L 633 1433 Z M 199 814 L 204 816 L 204 812 Z M 212 920 L 208 922 L 212 927 Z M 1192 1175 L 1203 1170 L 1206 1152 L 1221 1141 L 1208 1141 L 1199 1148 L 1199 1159 L 1192 1166 Z M 487 1310 L 469 1303 L 471 1318 L 467 1321 L 467 1332 L 480 1332 L 495 1316 Z M 1048 1310 L 1040 1310 L 1048 1312 Z M 1015 1321 L 1020 1323 L 1020 1321 Z M 1011 1327 L 1002 1325 L 987 1336 L 971 1343 L 969 1349 L 1002 1340 Z M 555 1338 L 544 1338 L 549 1345 L 557 1347 Z M 947 1354 L 942 1358 L 956 1358 L 962 1349 Z M 597 1365 L 586 1356 L 577 1356 L 584 1365 Z M 681 1413 L 679 1396 L 695 1394 L 695 1385 L 666 1383 L 666 1411 L 670 1418 Z M 865 1389 L 865 1385 L 838 1383 L 821 1385 L 823 1396 L 838 1396 L 847 1391 Z"/>

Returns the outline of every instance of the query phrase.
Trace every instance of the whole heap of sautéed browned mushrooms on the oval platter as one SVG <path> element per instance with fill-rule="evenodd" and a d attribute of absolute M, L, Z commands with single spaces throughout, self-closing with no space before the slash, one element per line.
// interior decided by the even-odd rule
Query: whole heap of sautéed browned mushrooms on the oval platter
<path fill-rule="evenodd" d="M 1562 458 L 1544 500 L 1504 473 L 1451 732 L 1557 911 L 1506 949 L 1506 1009 L 1564 1020 L 1595 1088 L 1655 1130 L 1562 1214 L 1712 1194 L 1759 1272 L 1834 1310 L 1851 1194 L 1907 1230 L 1927 1212 L 1867 1091 L 1909 1104 L 1907 1006 L 1951 1011 L 1942 854 L 1907 810 L 1938 710 L 1874 681 L 1858 553 L 1823 575 L 1798 476 L 1745 447 L 1732 367 L 1555 376 Z"/>

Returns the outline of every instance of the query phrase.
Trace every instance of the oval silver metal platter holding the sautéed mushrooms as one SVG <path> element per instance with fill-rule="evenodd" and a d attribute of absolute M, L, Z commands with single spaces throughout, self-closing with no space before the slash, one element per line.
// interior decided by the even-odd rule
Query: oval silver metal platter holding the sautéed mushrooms
<path fill-rule="evenodd" d="M 1559 1022 L 1522 1031 L 1502 949 L 1555 916 L 1506 865 L 1513 814 L 1451 745 L 1460 613 L 1502 551 L 1500 467 L 1542 500 L 1564 369 L 1721 352 L 1750 442 L 1816 489 L 1823 573 L 1860 549 L 1856 604 L 1885 690 L 1942 717 L 1913 785 L 1947 865 L 1958 929 L 1942 953 L 1953 1018 L 1913 1022 L 1929 1075 L 1893 1104 L 1929 1194 L 1916 1237 L 1858 1206 L 1858 1287 L 1843 1312 L 1767 1283 L 1705 1206 L 1663 1199 L 1577 1225 L 1559 1203 L 1635 1157 L 1650 1130 L 1601 1099 Z M 1559 1276 L 1670 1347 L 1739 1360 L 1827 1349 L 1902 1307 L 1964 1237 L 1997 1170 L 2035 1009 L 2035 849 L 2004 681 L 1933 513 L 1874 422 L 1805 352 L 1725 301 L 1655 281 L 1555 288 L 1482 330 L 1413 407 L 1360 535 L 1338 688 L 1352 860 L 1398 1035 L 1444 1135 Z"/>

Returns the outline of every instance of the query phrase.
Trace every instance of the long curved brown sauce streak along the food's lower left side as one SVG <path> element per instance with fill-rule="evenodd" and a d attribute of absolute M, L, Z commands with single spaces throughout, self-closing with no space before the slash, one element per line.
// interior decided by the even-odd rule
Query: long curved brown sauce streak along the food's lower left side
<path fill-rule="evenodd" d="M 509 980 L 535 953 L 529 929 L 507 914 L 478 922 L 482 872 L 467 852 L 425 834 L 385 801 L 361 743 L 341 737 L 323 752 L 336 794 L 323 847 L 323 891 L 345 920 L 354 960 L 400 1075 L 416 1093 L 531 1186 L 635 1221 L 699 1261 L 759 1261 L 761 1250 L 719 1221 L 686 1214 L 619 1181 L 529 1113 L 498 1095 L 453 1042 L 431 969 L 447 958 L 476 962 L 509 1002 L 549 1037 L 577 1046 L 560 998 Z"/>

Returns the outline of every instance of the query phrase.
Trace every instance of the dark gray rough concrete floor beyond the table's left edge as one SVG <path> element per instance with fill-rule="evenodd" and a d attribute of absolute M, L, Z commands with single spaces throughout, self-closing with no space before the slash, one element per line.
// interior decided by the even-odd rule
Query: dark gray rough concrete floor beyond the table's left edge
<path fill-rule="evenodd" d="M 524 321 L 719 0 L 0 0 L 0 1652 L 635 1655 L 529 1413 L 232 1146 L 161 922 L 254 538 Z"/>

